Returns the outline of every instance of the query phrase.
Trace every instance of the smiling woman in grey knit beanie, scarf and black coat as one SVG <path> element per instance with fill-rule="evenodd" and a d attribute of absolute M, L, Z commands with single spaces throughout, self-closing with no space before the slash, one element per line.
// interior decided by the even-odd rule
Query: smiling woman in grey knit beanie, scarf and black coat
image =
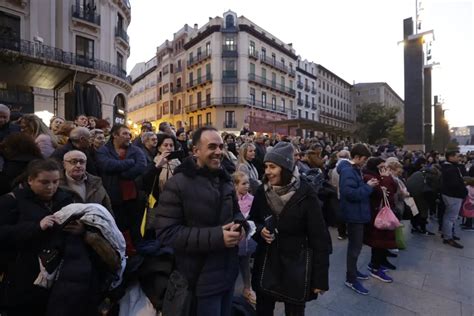
<path fill-rule="evenodd" d="M 252 286 L 257 315 L 304 315 L 305 303 L 329 289 L 330 237 L 316 192 L 300 180 L 293 146 L 280 142 L 264 158 L 265 176 L 250 210 L 257 241 Z"/>

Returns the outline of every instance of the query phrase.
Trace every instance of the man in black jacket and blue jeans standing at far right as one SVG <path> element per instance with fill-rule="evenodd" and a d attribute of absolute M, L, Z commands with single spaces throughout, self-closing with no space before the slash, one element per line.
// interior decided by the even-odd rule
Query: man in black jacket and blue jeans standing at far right
<path fill-rule="evenodd" d="M 446 162 L 442 167 L 441 194 L 446 205 L 443 217 L 443 243 L 455 248 L 463 248 L 456 242 L 458 237 L 454 235 L 455 221 L 461 210 L 462 202 L 467 196 L 466 185 L 463 177 L 466 176 L 466 169 L 459 164 L 459 152 L 447 151 Z"/>

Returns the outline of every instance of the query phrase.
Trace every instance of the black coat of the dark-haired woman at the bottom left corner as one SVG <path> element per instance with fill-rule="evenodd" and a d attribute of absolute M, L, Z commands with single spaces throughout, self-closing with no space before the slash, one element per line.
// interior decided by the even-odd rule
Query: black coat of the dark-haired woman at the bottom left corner
<path fill-rule="evenodd" d="M 49 291 L 33 285 L 39 274 L 38 254 L 51 248 L 53 230 L 42 231 L 43 217 L 72 203 L 69 194 L 58 189 L 51 209 L 42 203 L 31 189 L 16 189 L 0 197 L 0 253 L 10 258 L 6 275 L 9 306 L 46 306 Z"/>

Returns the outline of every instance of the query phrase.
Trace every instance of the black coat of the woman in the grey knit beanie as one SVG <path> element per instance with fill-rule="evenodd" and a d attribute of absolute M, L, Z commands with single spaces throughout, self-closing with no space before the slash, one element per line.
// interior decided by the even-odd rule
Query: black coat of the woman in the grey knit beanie
<path fill-rule="evenodd" d="M 295 250 L 300 249 L 300 245 L 303 246 L 307 239 L 308 247 L 313 250 L 311 289 L 328 290 L 330 236 L 316 192 L 305 181 L 301 181 L 300 188 L 290 198 L 277 219 L 278 234 L 275 234 L 276 239 L 270 245 L 260 235 L 265 227 L 265 218 L 269 215 L 272 215 L 272 210 L 268 206 L 264 186 L 261 185 L 255 194 L 249 217 L 249 220 L 254 221 L 257 226 L 257 232 L 253 235 L 258 243 L 252 274 L 254 289 L 257 291 L 261 289 L 260 276 L 266 252 L 279 251 L 280 256 L 285 257 L 284 260 L 291 260 Z M 285 271 L 280 273 L 283 274 Z M 294 279 L 291 271 L 289 275 L 280 277 L 281 280 Z M 281 286 L 288 292 L 301 293 L 303 291 L 299 287 L 301 281 Z"/>

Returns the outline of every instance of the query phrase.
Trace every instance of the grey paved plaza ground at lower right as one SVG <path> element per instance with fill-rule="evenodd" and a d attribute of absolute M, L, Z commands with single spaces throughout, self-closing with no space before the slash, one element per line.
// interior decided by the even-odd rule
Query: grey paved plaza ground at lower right
<path fill-rule="evenodd" d="M 464 249 L 455 249 L 443 244 L 439 234 L 413 235 L 409 226 L 405 222 L 408 248 L 390 258 L 397 266 L 389 272 L 394 282 L 362 281 L 370 290 L 368 296 L 344 285 L 347 240 L 337 240 L 331 229 L 330 290 L 307 304 L 306 315 L 474 315 L 474 232 L 459 230 Z M 429 228 L 437 231 L 436 221 Z M 364 246 L 358 262 L 361 272 L 367 273 L 369 261 L 370 248 Z M 282 304 L 275 315 L 284 315 Z"/>

